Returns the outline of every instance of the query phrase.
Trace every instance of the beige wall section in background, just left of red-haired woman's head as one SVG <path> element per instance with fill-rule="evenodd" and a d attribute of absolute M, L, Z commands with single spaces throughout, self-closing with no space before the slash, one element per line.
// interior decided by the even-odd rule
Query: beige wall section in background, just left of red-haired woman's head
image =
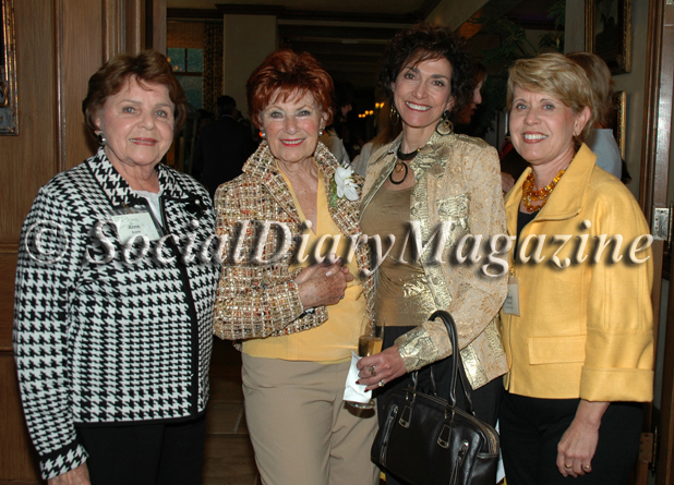
<path fill-rule="evenodd" d="M 245 82 L 264 58 L 276 50 L 276 16 L 224 15 L 222 93 L 237 100 L 249 118 Z"/>

